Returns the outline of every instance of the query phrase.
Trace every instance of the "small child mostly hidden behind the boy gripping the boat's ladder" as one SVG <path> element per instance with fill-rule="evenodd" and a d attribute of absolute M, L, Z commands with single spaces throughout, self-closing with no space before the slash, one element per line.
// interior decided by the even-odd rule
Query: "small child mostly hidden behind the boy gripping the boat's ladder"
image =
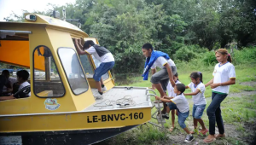
<path fill-rule="evenodd" d="M 178 74 L 175 73 L 173 75 L 173 80 L 175 82 L 175 84 L 181 84 L 181 82 L 178 80 Z M 167 92 L 168 92 L 168 96 L 169 97 L 165 97 L 166 99 L 171 99 L 174 98 L 176 96 L 176 94 L 174 93 L 174 88 L 172 87 L 172 84 L 169 81 L 169 84 L 167 85 Z M 164 113 L 162 115 L 163 118 L 165 119 L 169 119 L 169 113 L 170 113 L 170 109 L 172 110 L 172 127 L 169 129 L 169 131 L 173 131 L 174 129 L 174 122 L 175 122 L 175 110 L 177 109 L 177 106 L 175 103 L 173 102 L 167 102 L 167 106 L 166 107 L 166 113 Z"/>

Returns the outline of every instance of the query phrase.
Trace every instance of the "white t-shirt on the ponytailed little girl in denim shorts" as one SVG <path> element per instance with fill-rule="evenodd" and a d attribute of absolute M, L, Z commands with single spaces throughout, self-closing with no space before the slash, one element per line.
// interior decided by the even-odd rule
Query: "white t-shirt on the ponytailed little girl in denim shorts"
<path fill-rule="evenodd" d="M 205 104 L 207 104 L 207 100 L 206 100 L 206 97 L 204 95 L 205 90 L 206 90 L 205 84 L 200 83 L 200 84 L 197 84 L 197 86 L 195 87 L 195 84 L 191 82 L 188 86 L 189 86 L 189 88 L 191 89 L 192 92 L 195 92 L 195 90 L 200 90 L 197 95 L 192 96 L 193 102 L 194 102 L 195 105 L 205 105 Z"/>

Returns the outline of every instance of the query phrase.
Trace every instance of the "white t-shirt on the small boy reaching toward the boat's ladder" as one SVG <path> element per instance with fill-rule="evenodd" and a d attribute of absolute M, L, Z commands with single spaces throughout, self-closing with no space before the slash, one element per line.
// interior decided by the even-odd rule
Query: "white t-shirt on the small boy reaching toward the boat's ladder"
<path fill-rule="evenodd" d="M 171 101 L 176 104 L 181 113 L 187 113 L 189 111 L 189 102 L 183 94 L 176 96 Z"/>

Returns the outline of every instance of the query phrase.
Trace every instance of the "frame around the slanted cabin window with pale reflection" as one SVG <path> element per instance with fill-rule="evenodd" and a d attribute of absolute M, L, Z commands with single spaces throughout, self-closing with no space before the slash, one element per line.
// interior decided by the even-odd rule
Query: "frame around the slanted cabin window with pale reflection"
<path fill-rule="evenodd" d="M 59 47 L 59 48 L 57 49 L 57 53 L 58 53 L 59 59 L 60 59 L 60 61 L 61 61 L 60 49 L 73 49 L 73 48 L 69 48 L 69 47 Z M 80 61 L 79 55 L 77 54 L 77 52 L 76 52 L 74 49 L 73 49 L 73 51 L 75 52 L 75 55 L 77 55 L 77 58 L 78 58 L 78 60 L 79 60 L 79 66 L 80 66 L 82 72 L 84 73 L 84 68 L 83 68 L 82 65 L 81 65 L 81 61 Z M 87 86 L 88 86 L 87 90 L 84 90 L 84 91 L 82 91 L 82 92 L 79 93 L 79 94 L 74 93 L 74 91 L 73 91 L 73 89 L 72 89 L 72 87 L 71 87 L 71 85 L 70 85 L 69 79 L 68 79 L 68 77 L 67 77 L 66 70 L 65 70 L 65 68 L 63 67 L 62 61 L 61 61 L 61 66 L 62 66 L 62 68 L 63 68 L 63 70 L 64 70 L 64 73 L 65 73 L 65 76 L 66 76 L 66 78 L 67 78 L 67 82 L 68 82 L 69 88 L 72 90 L 73 95 L 79 96 L 79 95 L 84 94 L 85 92 L 87 92 L 87 91 L 89 90 L 90 84 L 88 83 L 88 80 L 87 80 L 87 78 L 86 78 L 86 75 L 84 74 L 84 79 L 85 79 L 86 84 L 87 84 Z"/>

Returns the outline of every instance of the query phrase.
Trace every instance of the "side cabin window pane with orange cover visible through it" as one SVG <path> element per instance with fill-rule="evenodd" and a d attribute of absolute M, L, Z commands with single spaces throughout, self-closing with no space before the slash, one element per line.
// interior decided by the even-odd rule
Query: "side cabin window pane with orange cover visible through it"
<path fill-rule="evenodd" d="M 38 97 L 64 96 L 65 89 L 49 48 L 38 46 L 33 52 L 33 91 Z"/>

